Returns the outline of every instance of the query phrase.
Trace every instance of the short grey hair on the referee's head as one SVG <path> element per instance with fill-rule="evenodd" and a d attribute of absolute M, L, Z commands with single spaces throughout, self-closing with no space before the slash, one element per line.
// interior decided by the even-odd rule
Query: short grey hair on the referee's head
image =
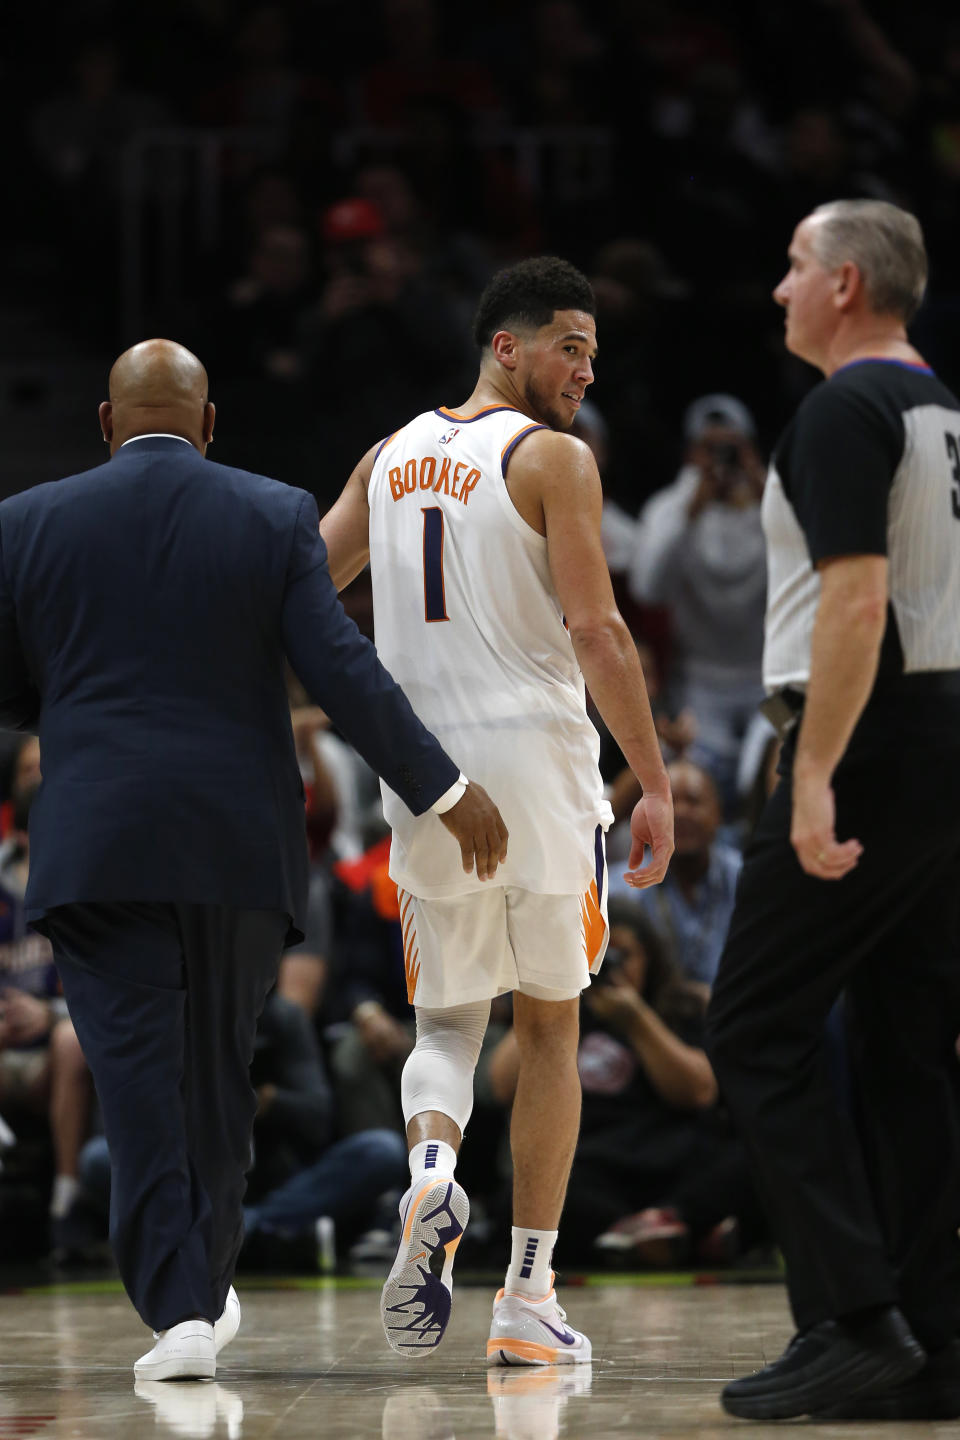
<path fill-rule="evenodd" d="M 813 215 L 813 253 L 825 269 L 853 261 L 871 308 L 910 323 L 927 288 L 920 220 L 888 200 L 830 200 Z"/>

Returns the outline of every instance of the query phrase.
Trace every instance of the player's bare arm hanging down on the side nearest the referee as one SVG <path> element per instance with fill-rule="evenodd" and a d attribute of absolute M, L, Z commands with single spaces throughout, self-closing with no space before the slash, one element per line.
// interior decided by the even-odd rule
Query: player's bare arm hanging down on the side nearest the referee
<path fill-rule="evenodd" d="M 674 802 L 633 636 L 613 598 L 600 543 L 603 492 L 593 455 L 556 431 L 531 435 L 510 462 L 510 492 L 521 516 L 547 537 L 550 575 L 587 688 L 643 799 L 630 822 L 628 880 L 655 884 L 674 852 Z M 645 870 L 643 845 L 653 858 Z"/>

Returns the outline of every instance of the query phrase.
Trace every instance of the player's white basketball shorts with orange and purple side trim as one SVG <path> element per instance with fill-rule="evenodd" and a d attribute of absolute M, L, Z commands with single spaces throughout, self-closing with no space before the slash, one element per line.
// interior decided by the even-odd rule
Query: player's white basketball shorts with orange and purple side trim
<path fill-rule="evenodd" d="M 543 896 L 491 884 L 423 900 L 399 891 L 403 962 L 412 1005 L 445 1009 L 520 991 L 573 999 L 607 946 L 607 877 L 597 831 L 597 878 L 583 896 Z"/>

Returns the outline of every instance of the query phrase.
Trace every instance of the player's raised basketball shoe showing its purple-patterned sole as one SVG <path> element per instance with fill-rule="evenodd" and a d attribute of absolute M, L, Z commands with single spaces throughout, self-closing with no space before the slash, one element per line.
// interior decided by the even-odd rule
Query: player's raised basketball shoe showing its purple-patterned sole
<path fill-rule="evenodd" d="M 387 1342 L 400 1355 L 427 1355 L 443 1339 L 453 1305 L 453 1256 L 471 1205 L 450 1176 L 427 1176 L 400 1201 L 400 1248 L 380 1297 Z"/>

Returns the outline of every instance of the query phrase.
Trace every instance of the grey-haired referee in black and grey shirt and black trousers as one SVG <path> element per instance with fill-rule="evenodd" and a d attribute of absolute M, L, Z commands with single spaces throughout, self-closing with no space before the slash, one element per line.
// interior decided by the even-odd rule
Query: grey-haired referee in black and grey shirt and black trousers
<path fill-rule="evenodd" d="M 786 733 L 708 1017 L 797 1335 L 724 1388 L 753 1420 L 960 1416 L 960 402 L 907 340 L 913 215 L 841 200 L 774 291 L 825 374 L 763 498 Z M 855 1117 L 825 1025 L 845 996 Z"/>

